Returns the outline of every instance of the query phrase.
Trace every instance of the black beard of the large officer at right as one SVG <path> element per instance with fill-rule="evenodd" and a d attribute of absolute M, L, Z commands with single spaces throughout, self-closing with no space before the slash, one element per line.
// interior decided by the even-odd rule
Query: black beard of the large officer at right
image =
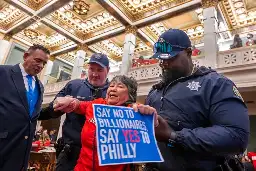
<path fill-rule="evenodd" d="M 169 68 L 169 69 L 162 69 L 162 81 L 165 84 L 170 84 L 174 80 L 177 80 L 181 77 L 185 77 L 186 73 L 185 71 L 181 71 L 177 68 Z"/>

